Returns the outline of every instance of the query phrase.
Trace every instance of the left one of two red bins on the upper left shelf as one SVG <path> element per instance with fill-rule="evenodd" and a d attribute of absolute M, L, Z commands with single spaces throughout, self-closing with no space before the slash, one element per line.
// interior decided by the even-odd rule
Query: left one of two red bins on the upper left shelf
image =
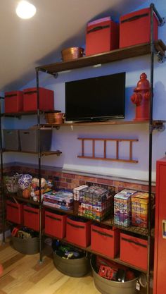
<path fill-rule="evenodd" d="M 23 92 L 5 92 L 5 112 L 11 113 L 19 111 L 23 111 Z"/>

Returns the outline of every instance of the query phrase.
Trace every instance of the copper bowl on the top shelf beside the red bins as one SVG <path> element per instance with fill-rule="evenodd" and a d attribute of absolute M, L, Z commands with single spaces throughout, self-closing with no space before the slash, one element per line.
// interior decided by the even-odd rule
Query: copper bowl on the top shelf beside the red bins
<path fill-rule="evenodd" d="M 84 48 L 81 47 L 70 47 L 61 51 L 62 60 L 70 61 L 72 59 L 78 59 L 84 55 Z"/>

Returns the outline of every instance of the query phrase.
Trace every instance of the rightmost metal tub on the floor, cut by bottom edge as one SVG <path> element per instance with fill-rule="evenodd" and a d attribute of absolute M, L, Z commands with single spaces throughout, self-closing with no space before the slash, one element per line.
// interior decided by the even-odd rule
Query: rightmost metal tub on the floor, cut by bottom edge
<path fill-rule="evenodd" d="M 134 280 L 126 281 L 124 283 L 117 281 L 110 281 L 102 276 L 99 276 L 95 268 L 95 258 L 94 256 L 91 258 L 91 269 L 94 277 L 94 284 L 99 292 L 102 294 L 136 294 L 136 281 L 138 278 L 134 278 Z"/>

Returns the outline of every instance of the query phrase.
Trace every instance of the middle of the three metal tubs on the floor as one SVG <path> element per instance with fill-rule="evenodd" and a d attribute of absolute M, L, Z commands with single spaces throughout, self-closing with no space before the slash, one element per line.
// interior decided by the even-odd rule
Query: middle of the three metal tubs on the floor
<path fill-rule="evenodd" d="M 67 276 L 85 276 L 90 271 L 90 263 L 87 257 L 64 259 L 53 252 L 53 263 L 58 271 Z"/>

